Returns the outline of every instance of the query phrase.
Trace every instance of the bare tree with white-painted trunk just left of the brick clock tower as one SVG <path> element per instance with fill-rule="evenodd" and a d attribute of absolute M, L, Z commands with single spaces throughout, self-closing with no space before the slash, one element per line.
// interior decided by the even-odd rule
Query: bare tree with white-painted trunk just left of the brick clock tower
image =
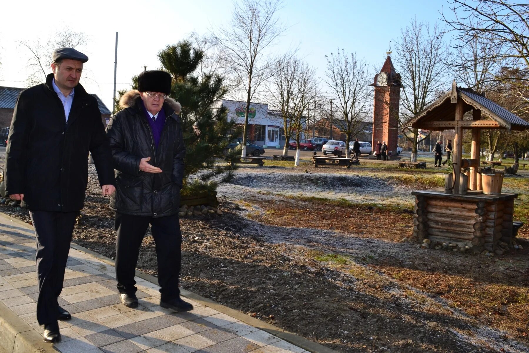
<path fill-rule="evenodd" d="M 364 59 L 356 53 L 350 55 L 343 49 L 327 58 L 326 79 L 331 89 L 336 110 L 336 127 L 345 134 L 345 156 L 349 158 L 349 142 L 353 135 L 363 129 L 362 122 L 369 115 L 370 90 L 369 70 Z"/>

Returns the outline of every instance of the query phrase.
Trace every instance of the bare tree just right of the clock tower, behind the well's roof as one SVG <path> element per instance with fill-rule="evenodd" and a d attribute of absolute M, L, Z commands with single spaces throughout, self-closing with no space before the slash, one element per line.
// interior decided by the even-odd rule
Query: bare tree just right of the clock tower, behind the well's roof
<path fill-rule="evenodd" d="M 430 28 L 427 23 L 415 19 L 406 28 L 400 29 L 395 62 L 404 86 L 404 95 L 400 99 L 402 109 L 398 115 L 401 125 L 423 111 L 441 92 L 445 84 L 443 74 L 447 49 L 437 24 Z M 404 135 L 412 142 L 411 161 L 417 161 L 417 144 L 422 140 L 418 138 L 418 129 L 412 131 L 413 139 L 406 133 Z"/>

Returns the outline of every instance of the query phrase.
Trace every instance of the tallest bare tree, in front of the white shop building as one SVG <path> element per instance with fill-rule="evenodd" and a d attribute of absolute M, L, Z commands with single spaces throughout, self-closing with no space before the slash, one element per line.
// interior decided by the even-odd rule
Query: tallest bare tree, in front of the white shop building
<path fill-rule="evenodd" d="M 222 51 L 218 57 L 227 73 L 236 77 L 244 88 L 246 113 L 242 142 L 242 156 L 246 156 L 248 113 L 257 89 L 270 76 L 271 60 L 267 49 L 284 32 L 275 14 L 281 0 L 241 0 L 235 3 L 231 26 L 213 33 Z"/>

